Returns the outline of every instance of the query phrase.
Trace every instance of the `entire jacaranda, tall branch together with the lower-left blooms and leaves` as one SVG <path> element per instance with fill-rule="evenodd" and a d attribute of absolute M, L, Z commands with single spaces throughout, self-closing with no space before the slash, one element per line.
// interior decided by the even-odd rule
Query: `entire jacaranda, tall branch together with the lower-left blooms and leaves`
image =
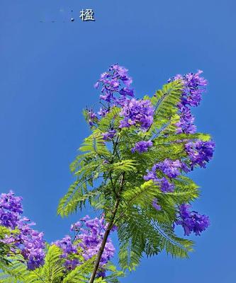
<path fill-rule="evenodd" d="M 123 272 L 109 260 L 117 231 L 119 263 L 134 270 L 143 255 L 162 250 L 186 258 L 208 216 L 191 210 L 198 185 L 187 176 L 206 167 L 214 142 L 196 133 L 191 107 L 198 106 L 207 81 L 196 74 L 177 75 L 151 98 L 135 98 L 128 70 L 118 64 L 101 74 L 100 109 L 84 110 L 91 134 L 70 169 L 76 180 L 60 200 L 58 214 L 68 216 L 91 205 L 99 218 L 85 216 L 71 226 L 74 236 L 50 245 L 43 233 L 21 216 L 21 198 L 0 198 L 1 282 L 118 282 Z"/>

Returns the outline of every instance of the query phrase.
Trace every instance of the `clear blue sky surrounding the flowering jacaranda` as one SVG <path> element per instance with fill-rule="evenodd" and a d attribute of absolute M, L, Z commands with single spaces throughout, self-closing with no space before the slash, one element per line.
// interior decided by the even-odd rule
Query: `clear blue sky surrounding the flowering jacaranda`
<path fill-rule="evenodd" d="M 82 23 L 82 8 L 94 8 L 96 22 Z M 56 208 L 89 134 L 82 109 L 98 100 L 99 74 L 118 62 L 142 96 L 174 74 L 203 69 L 209 86 L 196 124 L 216 151 L 192 176 L 202 190 L 194 208 L 210 216 L 210 229 L 193 237 L 189 260 L 144 258 L 121 282 L 235 282 L 235 11 L 235 0 L 1 0 L 0 187 L 23 196 L 47 241 L 86 214 L 61 219 Z"/>

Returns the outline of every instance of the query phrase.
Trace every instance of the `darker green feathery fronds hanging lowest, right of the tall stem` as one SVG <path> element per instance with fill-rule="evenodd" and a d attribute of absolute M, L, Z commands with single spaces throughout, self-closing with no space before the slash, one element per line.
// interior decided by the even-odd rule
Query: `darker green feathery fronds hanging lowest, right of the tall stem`
<path fill-rule="evenodd" d="M 140 262 L 142 253 L 147 256 L 157 255 L 166 250 L 173 257 L 186 258 L 192 250 L 192 242 L 176 237 L 173 231 L 175 204 L 189 202 L 198 196 L 197 186 L 191 183 L 188 190 L 186 183 L 176 182 L 175 192 L 163 194 L 152 181 L 141 187 L 126 190 L 123 194 L 125 204 L 120 207 L 120 216 L 125 223 L 118 226 L 120 238 L 120 265 L 132 270 Z M 157 197 L 162 211 L 152 207 L 152 200 Z"/>

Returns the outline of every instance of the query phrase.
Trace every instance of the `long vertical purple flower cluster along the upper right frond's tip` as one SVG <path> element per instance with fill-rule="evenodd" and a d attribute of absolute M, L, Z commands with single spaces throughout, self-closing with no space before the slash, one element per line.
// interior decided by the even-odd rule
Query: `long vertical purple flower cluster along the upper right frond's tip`
<path fill-rule="evenodd" d="M 178 105 L 180 120 L 176 123 L 176 133 L 193 134 L 196 132 L 196 126 L 193 125 L 194 117 L 191 114 L 190 107 L 196 107 L 201 102 L 202 94 L 206 91 L 207 81 L 201 77 L 203 71 L 196 74 L 189 73 L 184 76 L 176 75 L 173 80 L 181 80 L 184 88 L 181 96 L 181 102 Z"/>

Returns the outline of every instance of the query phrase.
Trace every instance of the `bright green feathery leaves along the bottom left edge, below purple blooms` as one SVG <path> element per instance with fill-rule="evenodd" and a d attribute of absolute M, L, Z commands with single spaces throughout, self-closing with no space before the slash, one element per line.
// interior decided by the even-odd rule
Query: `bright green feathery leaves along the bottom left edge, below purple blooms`
<path fill-rule="evenodd" d="M 94 258 L 84 261 L 74 270 L 67 270 L 64 267 L 64 258 L 61 257 L 62 250 L 52 245 L 47 250 L 45 264 L 36 269 L 28 270 L 21 255 L 13 255 L 9 258 L 9 265 L 0 262 L 1 283 L 87 283 L 94 267 Z M 104 268 L 109 272 L 108 276 L 96 278 L 97 283 L 118 283 L 118 277 L 123 272 L 116 270 L 116 267 L 108 263 Z"/>

